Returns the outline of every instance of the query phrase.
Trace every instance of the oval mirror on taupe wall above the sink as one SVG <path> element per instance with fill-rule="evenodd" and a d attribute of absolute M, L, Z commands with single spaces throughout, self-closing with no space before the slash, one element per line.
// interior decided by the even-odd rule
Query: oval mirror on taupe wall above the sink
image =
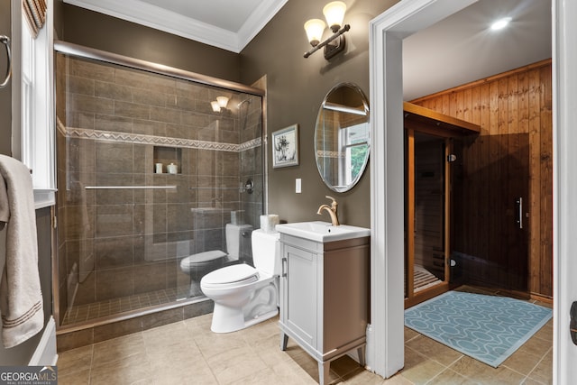
<path fill-rule="evenodd" d="M 361 179 L 369 161 L 369 102 L 351 83 L 333 87 L 316 116 L 316 167 L 325 185 L 348 191 Z"/>

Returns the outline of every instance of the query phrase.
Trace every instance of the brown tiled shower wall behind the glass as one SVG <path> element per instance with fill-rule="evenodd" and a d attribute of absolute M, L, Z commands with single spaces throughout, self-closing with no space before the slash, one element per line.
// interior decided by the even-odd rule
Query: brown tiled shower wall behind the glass
<path fill-rule="evenodd" d="M 230 97 L 220 113 L 216 96 Z M 258 227 L 260 96 L 58 54 L 57 116 L 60 319 L 159 289 L 186 296 L 182 257 L 225 251 L 231 211 Z M 249 178 L 250 195 L 239 189 Z M 156 188 L 103 188 L 123 186 Z"/>

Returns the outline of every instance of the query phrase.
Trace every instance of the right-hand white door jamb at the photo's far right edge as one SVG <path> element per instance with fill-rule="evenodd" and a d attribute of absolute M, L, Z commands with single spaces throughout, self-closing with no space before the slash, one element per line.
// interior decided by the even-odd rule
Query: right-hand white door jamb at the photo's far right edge
<path fill-rule="evenodd" d="M 553 383 L 574 383 L 577 346 L 569 311 L 577 300 L 577 2 L 553 0 Z"/>

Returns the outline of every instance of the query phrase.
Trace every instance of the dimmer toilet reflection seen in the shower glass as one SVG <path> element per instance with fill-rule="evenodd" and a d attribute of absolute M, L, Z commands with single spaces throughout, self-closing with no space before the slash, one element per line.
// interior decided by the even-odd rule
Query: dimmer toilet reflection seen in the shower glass
<path fill-rule="evenodd" d="M 252 225 L 226 224 L 224 235 L 227 252 L 221 250 L 198 252 L 180 261 L 180 270 L 190 276 L 190 297 L 202 295 L 199 280 L 206 273 L 222 267 L 225 263 L 239 261 L 243 252 L 242 239 L 248 237 L 251 231 Z"/>

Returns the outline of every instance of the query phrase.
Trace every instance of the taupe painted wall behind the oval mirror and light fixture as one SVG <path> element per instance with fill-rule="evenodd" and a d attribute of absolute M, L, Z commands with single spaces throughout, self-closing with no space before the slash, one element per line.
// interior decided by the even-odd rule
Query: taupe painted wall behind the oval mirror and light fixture
<path fill-rule="evenodd" d="M 347 193 L 335 193 L 325 187 L 315 161 L 315 123 L 318 107 L 325 94 L 341 82 L 353 82 L 369 96 L 369 22 L 396 1 L 359 0 L 347 2 L 345 23 L 346 51 L 327 61 L 320 50 L 308 59 L 310 49 L 303 24 L 322 18 L 326 1 L 290 0 L 270 23 L 241 52 L 241 82 L 250 84 L 267 75 L 267 129 L 270 133 L 298 124 L 300 164 L 272 169 L 269 154 L 269 212 L 289 222 L 325 220 L 316 209 L 326 203 L 325 195 L 339 203 L 339 218 L 347 225 L 371 225 L 371 180 L 367 168 L 359 184 Z M 371 103 L 371 100 L 369 100 Z M 302 179 L 302 194 L 295 193 L 295 179 Z M 402 224 L 401 224 L 402 225 Z"/>

